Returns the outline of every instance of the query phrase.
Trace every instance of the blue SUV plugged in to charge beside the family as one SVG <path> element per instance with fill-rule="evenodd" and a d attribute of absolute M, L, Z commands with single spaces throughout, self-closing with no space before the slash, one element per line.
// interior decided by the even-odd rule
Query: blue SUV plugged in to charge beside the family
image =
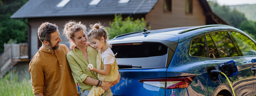
<path fill-rule="evenodd" d="M 232 96 L 225 78 L 209 76 L 235 61 L 229 77 L 236 96 L 256 95 L 256 42 L 227 25 L 205 25 L 132 32 L 109 41 L 120 68 L 116 96 Z"/>

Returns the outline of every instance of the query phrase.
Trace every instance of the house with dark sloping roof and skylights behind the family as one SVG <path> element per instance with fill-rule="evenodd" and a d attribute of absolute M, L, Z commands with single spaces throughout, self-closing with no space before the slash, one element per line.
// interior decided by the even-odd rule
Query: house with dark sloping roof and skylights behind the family
<path fill-rule="evenodd" d="M 226 24 L 212 12 L 206 0 L 29 0 L 11 18 L 28 19 L 28 55 L 30 60 L 41 42 L 37 28 L 43 22 L 55 23 L 62 34 L 66 21 L 76 20 L 86 24 L 101 22 L 109 26 L 114 14 L 123 17 L 145 18 L 151 29 L 183 26 Z M 143 28 L 141 28 L 143 29 Z M 60 35 L 62 44 L 68 40 Z"/>

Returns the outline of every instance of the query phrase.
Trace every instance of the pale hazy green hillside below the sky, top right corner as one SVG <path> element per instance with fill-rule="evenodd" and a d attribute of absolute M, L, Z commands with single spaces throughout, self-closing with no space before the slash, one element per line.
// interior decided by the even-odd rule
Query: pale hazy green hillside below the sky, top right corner
<path fill-rule="evenodd" d="M 256 4 L 230 5 L 229 8 L 231 10 L 236 8 L 238 11 L 244 13 L 248 20 L 256 21 Z"/>

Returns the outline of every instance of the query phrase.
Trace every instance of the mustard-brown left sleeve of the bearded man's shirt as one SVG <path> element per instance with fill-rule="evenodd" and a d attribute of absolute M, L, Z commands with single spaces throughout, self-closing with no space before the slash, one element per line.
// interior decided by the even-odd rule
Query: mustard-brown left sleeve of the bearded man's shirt
<path fill-rule="evenodd" d="M 33 94 L 44 92 L 44 72 L 43 69 L 31 61 L 29 64 L 29 73 L 31 74 Z"/>

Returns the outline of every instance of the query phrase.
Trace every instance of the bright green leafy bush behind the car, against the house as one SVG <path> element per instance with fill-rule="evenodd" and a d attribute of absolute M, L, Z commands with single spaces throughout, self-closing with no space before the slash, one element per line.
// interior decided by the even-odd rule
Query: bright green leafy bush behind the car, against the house
<path fill-rule="evenodd" d="M 134 31 L 141 31 L 146 28 L 146 21 L 144 18 L 133 20 L 129 16 L 123 20 L 122 15 L 116 15 L 113 22 L 109 22 L 110 27 L 106 27 L 110 39 L 115 36 L 130 33 Z M 148 27 L 150 29 L 150 26 Z"/>

